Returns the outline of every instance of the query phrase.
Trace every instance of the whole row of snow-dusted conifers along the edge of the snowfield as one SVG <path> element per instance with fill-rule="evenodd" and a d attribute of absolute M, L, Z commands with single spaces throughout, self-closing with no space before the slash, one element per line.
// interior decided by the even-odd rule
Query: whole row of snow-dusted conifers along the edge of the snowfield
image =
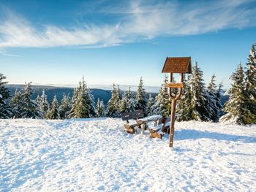
<path fill-rule="evenodd" d="M 86 81 L 83 79 L 74 89 L 72 98 L 64 94 L 61 102 L 54 96 L 49 104 L 44 91 L 37 99 L 31 99 L 31 82 L 26 84 L 22 91 L 16 90 L 10 96 L 5 88 L 6 77 L 0 74 L 0 118 L 41 118 L 41 119 L 67 119 L 67 118 L 119 118 L 121 112 L 143 110 L 145 115 L 170 115 L 170 99 L 163 81 L 159 93 L 155 98 L 146 91 L 143 79 L 140 78 L 138 91 L 132 93 L 131 88 L 121 93 L 118 85 L 113 84 L 111 98 L 105 106 L 103 101 L 91 94 Z M 230 94 L 225 106 L 221 104 L 222 82 L 216 84 L 215 75 L 211 77 L 208 86 L 203 80 L 203 72 L 195 62 L 192 74 L 185 79 L 185 87 L 181 99 L 177 104 L 177 120 L 200 121 L 233 121 L 238 124 L 256 123 L 256 55 L 255 45 L 252 45 L 246 67 L 238 65 L 231 77 L 233 84 L 227 91 Z M 176 92 L 176 89 L 173 89 Z"/>

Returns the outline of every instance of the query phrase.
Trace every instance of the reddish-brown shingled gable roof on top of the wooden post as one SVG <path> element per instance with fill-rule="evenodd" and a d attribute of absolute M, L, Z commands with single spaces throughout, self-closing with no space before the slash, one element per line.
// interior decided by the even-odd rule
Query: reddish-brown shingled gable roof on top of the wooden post
<path fill-rule="evenodd" d="M 162 73 L 191 73 L 191 57 L 166 58 Z"/>

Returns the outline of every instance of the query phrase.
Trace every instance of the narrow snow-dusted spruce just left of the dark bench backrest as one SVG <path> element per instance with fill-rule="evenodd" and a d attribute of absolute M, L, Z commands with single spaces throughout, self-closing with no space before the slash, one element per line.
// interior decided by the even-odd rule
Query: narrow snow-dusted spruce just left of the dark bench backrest
<path fill-rule="evenodd" d="M 108 107 L 107 107 L 108 117 L 111 117 L 111 118 L 120 117 L 119 103 L 120 103 L 119 92 L 118 92 L 118 89 L 116 88 L 116 85 L 113 84 L 113 89 L 111 91 L 111 98 L 108 101 Z"/>

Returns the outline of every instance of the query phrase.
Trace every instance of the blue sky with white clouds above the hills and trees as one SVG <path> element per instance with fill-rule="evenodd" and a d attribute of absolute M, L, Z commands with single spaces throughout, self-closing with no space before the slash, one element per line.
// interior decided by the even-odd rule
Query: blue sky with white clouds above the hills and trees
<path fill-rule="evenodd" d="M 191 56 L 230 88 L 256 42 L 256 1 L 1 0 L 0 73 L 12 84 L 159 86 Z"/>

